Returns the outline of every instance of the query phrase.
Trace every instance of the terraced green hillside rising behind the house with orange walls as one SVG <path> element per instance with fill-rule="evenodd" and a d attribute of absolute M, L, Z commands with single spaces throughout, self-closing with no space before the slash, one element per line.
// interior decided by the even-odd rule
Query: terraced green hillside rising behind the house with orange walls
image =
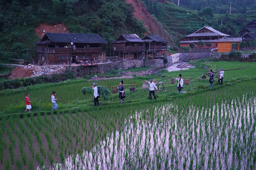
<path fill-rule="evenodd" d="M 226 0 L 180 0 L 179 6 L 177 6 L 177 0 L 174 2 L 171 0 L 141 1 L 168 32 L 179 35 L 176 38 L 177 47 L 179 38 L 195 32 L 204 25 L 212 26 L 231 37 L 238 37 L 237 32 L 256 18 L 255 0 L 235 0 L 231 14 L 229 14 L 229 0 L 228 2 Z M 218 10 L 219 8 L 223 8 L 225 12 Z"/>

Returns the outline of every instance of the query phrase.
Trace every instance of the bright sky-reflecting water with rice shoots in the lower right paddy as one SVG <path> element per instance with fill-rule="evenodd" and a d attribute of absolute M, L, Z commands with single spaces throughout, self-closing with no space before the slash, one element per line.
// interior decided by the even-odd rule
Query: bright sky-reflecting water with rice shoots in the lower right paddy
<path fill-rule="evenodd" d="M 135 113 L 123 132 L 52 169 L 256 169 L 256 97 L 189 108 Z"/>

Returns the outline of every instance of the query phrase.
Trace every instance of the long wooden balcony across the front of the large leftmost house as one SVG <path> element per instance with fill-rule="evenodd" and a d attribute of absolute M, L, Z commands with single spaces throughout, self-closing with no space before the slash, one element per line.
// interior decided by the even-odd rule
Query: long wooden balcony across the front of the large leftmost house
<path fill-rule="evenodd" d="M 37 52 L 45 52 L 45 53 L 100 53 L 101 47 L 95 48 L 46 48 L 45 50 Z"/>

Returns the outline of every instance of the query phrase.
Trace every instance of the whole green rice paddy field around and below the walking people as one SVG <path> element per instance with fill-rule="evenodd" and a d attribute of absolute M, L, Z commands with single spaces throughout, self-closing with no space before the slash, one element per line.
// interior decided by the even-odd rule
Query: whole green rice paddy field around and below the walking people
<path fill-rule="evenodd" d="M 156 101 L 137 86 L 125 104 L 111 94 L 100 107 L 92 107 L 92 94 L 81 93 L 92 84 L 84 80 L 3 91 L 1 101 L 10 108 L 1 102 L 0 169 L 256 169 L 256 77 L 243 72 L 235 79 L 225 73 L 224 85 L 212 88 L 208 80 L 194 79 L 182 95 L 165 79 L 166 92 L 157 93 Z M 145 79 L 125 82 L 142 85 Z M 41 99 L 33 99 L 34 111 L 24 114 L 17 98 L 28 89 L 31 99 Z M 51 111 L 49 92 L 55 89 L 61 109 Z"/>

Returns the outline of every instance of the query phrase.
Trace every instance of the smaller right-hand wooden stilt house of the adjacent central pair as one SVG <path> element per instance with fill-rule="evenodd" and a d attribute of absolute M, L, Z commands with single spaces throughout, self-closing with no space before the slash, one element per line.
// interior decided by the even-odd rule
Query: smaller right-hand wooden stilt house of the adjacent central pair
<path fill-rule="evenodd" d="M 159 35 L 147 35 L 142 39 L 145 42 L 145 54 L 149 55 L 165 55 L 167 51 L 167 41 Z"/>

